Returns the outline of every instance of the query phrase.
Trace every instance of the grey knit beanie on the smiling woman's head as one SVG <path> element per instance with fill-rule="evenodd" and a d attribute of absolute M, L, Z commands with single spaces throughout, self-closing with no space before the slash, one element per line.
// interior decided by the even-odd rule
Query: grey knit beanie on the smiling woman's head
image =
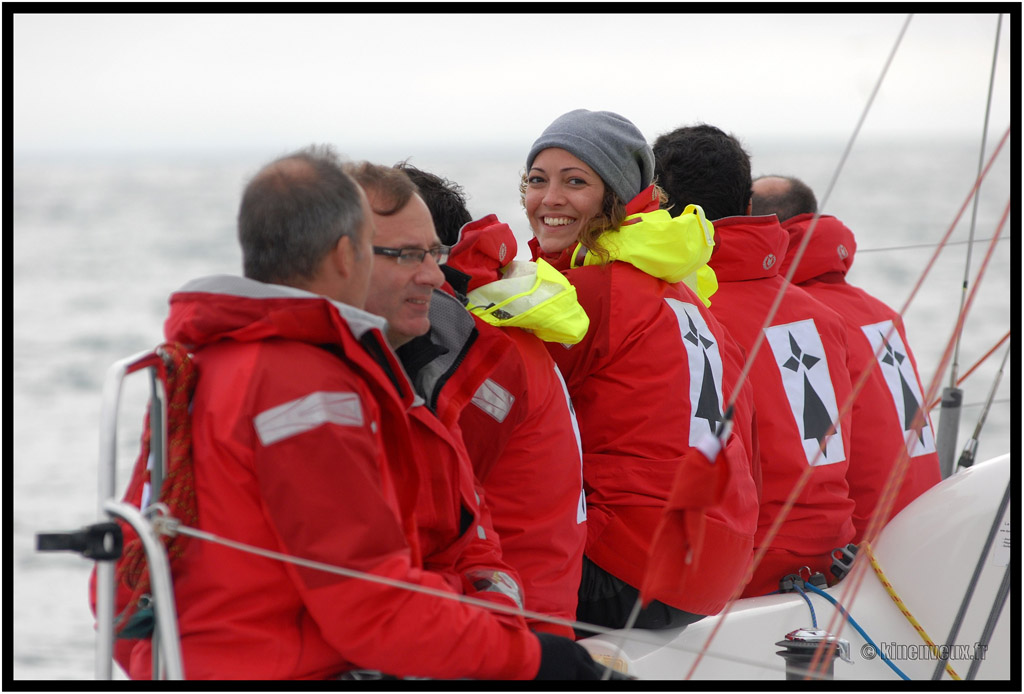
<path fill-rule="evenodd" d="M 636 198 L 654 177 L 654 153 L 643 133 L 610 111 L 577 109 L 556 118 L 529 148 L 526 171 L 548 147 L 578 157 L 623 203 Z"/>

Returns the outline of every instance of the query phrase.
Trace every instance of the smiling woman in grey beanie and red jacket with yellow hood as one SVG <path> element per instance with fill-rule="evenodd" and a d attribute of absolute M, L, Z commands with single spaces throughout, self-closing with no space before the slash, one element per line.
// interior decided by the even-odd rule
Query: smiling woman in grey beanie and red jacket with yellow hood
<path fill-rule="evenodd" d="M 714 226 L 695 206 L 676 217 L 659 209 L 653 172 L 633 123 L 577 110 L 534 142 L 520 184 L 534 258 L 565 273 L 590 317 L 579 344 L 545 344 L 583 447 L 588 528 L 577 618 L 611 628 L 626 625 L 642 585 L 647 605 L 634 626 L 677 627 L 720 611 L 745 573 L 758 517 L 742 390 L 716 466 L 728 480 L 697 504 L 702 520 L 687 527 L 700 536 L 674 548 L 685 567 L 678 579 L 673 570 L 656 588 L 644 583 L 676 474 L 693 446 L 715 437 L 742 363 L 707 309 L 717 289 L 707 265 Z"/>

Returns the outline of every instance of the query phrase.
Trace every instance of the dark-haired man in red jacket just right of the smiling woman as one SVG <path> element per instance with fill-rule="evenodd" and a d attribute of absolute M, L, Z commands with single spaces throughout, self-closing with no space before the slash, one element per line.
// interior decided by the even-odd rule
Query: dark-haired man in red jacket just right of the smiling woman
<path fill-rule="evenodd" d="M 842 320 L 779 275 L 787 235 L 773 216 L 748 216 L 750 156 L 735 137 L 707 124 L 678 128 L 657 138 L 654 159 L 665 207 L 678 214 L 699 205 L 714 219 L 712 314 L 749 354 L 764 334 L 750 371 L 762 474 L 756 547 L 765 545 L 791 490 L 812 468 L 743 595 L 774 592 L 804 566 L 828 576 L 831 551 L 853 537 L 851 418 L 849 410 L 840 417 L 851 391 Z M 782 301 L 765 326 L 779 292 Z"/>

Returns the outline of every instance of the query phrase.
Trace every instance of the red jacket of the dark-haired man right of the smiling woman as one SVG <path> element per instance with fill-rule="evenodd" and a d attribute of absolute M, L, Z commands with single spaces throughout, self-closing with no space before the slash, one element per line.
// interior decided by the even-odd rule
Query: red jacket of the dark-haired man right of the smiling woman
<path fill-rule="evenodd" d="M 805 564 L 828 575 L 829 553 L 853 537 L 846 482 L 849 410 L 828 434 L 850 396 L 846 330 L 833 310 L 779 276 L 787 234 L 774 215 L 726 217 L 715 221 L 715 229 L 720 243 L 711 266 L 719 289 L 712 313 L 748 354 L 764 335 L 750 371 L 762 463 L 758 547 L 798 480 L 814 466 L 744 591 L 763 595 Z M 762 333 L 780 290 L 783 299 Z"/>

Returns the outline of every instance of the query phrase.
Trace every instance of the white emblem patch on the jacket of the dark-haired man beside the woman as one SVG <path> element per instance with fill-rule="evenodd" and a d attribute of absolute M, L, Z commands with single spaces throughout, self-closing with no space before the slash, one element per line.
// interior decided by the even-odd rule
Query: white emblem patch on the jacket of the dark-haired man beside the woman
<path fill-rule="evenodd" d="M 765 329 L 809 465 L 846 460 L 836 389 L 812 318 Z M 829 430 L 835 424 L 835 432 Z"/>

